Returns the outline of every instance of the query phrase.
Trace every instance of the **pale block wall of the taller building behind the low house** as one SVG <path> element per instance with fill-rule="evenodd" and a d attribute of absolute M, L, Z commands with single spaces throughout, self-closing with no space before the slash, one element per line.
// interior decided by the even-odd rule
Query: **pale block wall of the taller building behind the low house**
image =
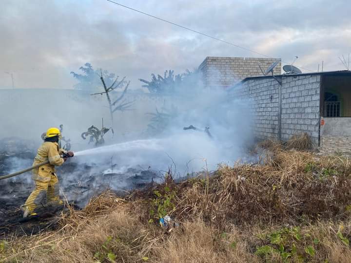
<path fill-rule="evenodd" d="M 266 70 L 276 60 L 280 62 L 274 68 L 274 72 L 279 75 L 281 59 L 278 58 L 208 56 L 198 69 L 202 72 L 206 87 L 228 87 L 246 77 L 262 75 L 258 63 Z"/>

